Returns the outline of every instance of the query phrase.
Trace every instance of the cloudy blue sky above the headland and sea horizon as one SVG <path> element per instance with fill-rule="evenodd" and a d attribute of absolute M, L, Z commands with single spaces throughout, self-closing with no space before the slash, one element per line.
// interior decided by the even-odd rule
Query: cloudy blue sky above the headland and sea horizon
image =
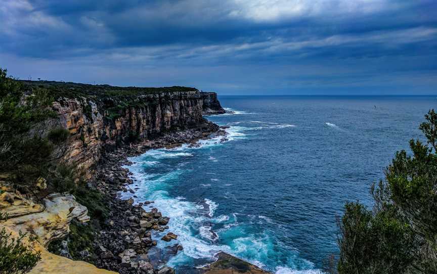
<path fill-rule="evenodd" d="M 20 79 L 219 95 L 436 95 L 435 0 L 1 0 Z"/>

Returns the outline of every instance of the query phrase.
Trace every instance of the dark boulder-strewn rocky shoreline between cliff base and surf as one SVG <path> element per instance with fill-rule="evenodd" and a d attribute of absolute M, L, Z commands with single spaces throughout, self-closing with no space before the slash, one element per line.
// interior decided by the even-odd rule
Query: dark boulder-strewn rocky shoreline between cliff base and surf
<path fill-rule="evenodd" d="M 157 241 L 170 242 L 178 236 L 168 232 L 162 239 L 153 239 L 154 230 L 169 230 L 169 218 L 162 216 L 157 208 L 153 207 L 150 211 L 143 208 L 144 205 L 153 206 L 153 201 L 138 202 L 133 198 L 119 198 L 120 192 L 135 193 L 129 187 L 133 184 L 133 180 L 129 178 L 132 173 L 122 166 L 132 164 L 127 160 L 128 157 L 140 155 L 150 149 L 173 148 L 187 143 L 196 146 L 197 141 L 217 135 L 223 136 L 222 142 L 226 141 L 225 130 L 205 120 L 198 128 L 163 134 L 153 141 L 130 144 L 128 147 L 102 155 L 94 180 L 88 186 L 110 197 L 110 216 L 94 241 L 98 255 L 98 259 L 95 260 L 97 267 L 121 274 L 174 273 L 173 269 L 163 265 L 169 256 L 183 250 L 183 246 L 174 244 L 168 250 L 157 250 Z M 204 271 L 199 269 L 198 272 Z"/>

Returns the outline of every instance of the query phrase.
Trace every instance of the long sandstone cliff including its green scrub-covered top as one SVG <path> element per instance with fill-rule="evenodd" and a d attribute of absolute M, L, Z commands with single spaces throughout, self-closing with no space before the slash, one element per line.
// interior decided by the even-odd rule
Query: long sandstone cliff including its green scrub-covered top
<path fill-rule="evenodd" d="M 50 127 L 70 133 L 64 158 L 89 171 L 102 152 L 171 131 L 200 127 L 203 114 L 224 113 L 215 93 L 191 87 L 116 87 L 23 81 L 55 97 L 59 118 Z"/>

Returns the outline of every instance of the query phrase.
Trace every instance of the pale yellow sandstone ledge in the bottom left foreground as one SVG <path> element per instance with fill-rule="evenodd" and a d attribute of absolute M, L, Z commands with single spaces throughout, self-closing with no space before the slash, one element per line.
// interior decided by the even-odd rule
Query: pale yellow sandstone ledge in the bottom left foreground
<path fill-rule="evenodd" d="M 76 202 L 69 194 L 52 194 L 43 199 L 43 205 L 25 199 L 19 192 L 11 190 L 0 180 L 0 212 L 8 213 L 9 219 L 0 222 L 12 237 L 18 232 L 37 236 L 36 241 L 23 239 L 23 244 L 41 252 L 41 260 L 29 272 L 32 274 L 107 274 L 112 271 L 99 269 L 83 261 L 73 261 L 46 250 L 50 241 L 64 237 L 69 232 L 72 219 L 86 222 L 90 219 L 86 207 Z"/>

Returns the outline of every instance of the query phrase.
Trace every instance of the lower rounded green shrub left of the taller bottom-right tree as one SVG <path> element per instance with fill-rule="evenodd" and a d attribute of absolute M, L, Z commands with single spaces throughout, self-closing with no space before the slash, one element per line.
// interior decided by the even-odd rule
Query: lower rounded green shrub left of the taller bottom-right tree
<path fill-rule="evenodd" d="M 398 274 L 412 261 L 408 225 L 391 210 L 373 214 L 359 203 L 347 203 L 340 223 L 339 273 Z"/>

